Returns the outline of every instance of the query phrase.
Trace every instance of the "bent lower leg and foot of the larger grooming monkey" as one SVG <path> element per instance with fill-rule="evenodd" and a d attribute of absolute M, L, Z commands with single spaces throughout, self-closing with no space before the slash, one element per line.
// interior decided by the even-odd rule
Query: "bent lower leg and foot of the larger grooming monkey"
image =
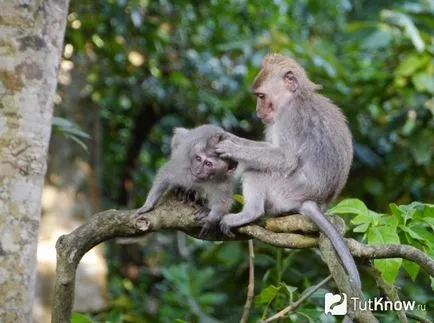
<path fill-rule="evenodd" d="M 232 235 L 231 228 L 251 223 L 264 214 L 266 194 L 265 189 L 258 184 L 260 182 L 260 176 L 255 173 L 244 174 L 243 195 L 246 204 L 241 212 L 227 214 L 220 221 L 220 229 L 226 235 Z"/>

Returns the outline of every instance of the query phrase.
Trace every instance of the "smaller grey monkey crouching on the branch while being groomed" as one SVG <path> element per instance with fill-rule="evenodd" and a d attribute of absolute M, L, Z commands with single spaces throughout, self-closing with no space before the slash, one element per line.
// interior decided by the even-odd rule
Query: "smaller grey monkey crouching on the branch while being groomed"
<path fill-rule="evenodd" d="M 152 210 L 167 190 L 183 187 L 208 201 L 196 212 L 203 224 L 201 234 L 218 224 L 232 205 L 231 176 L 237 164 L 217 155 L 215 147 L 223 136 L 225 131 L 213 125 L 176 128 L 170 159 L 158 170 L 146 202 L 136 214 Z"/>

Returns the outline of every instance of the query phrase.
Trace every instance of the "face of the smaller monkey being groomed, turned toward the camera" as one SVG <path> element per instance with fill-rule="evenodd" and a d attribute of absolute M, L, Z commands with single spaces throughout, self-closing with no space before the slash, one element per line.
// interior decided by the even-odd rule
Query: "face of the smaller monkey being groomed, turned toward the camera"
<path fill-rule="evenodd" d="M 207 180 L 224 180 L 232 175 L 235 167 L 230 167 L 230 162 L 207 154 L 199 152 L 194 154 L 191 160 L 191 175 L 195 182 L 203 182 Z"/>

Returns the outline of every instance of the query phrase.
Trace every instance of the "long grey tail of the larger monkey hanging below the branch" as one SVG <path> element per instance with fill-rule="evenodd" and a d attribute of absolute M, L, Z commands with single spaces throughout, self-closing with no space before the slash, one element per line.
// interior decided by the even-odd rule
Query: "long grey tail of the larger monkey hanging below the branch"
<path fill-rule="evenodd" d="M 318 204 L 313 201 L 306 201 L 301 205 L 300 213 L 312 220 L 312 222 L 324 232 L 327 238 L 330 239 L 337 254 L 341 258 L 345 269 L 347 270 L 348 276 L 350 277 L 350 282 L 353 283 L 357 289 L 360 289 L 362 283 L 360 281 L 359 272 L 357 271 L 354 258 L 338 230 L 336 230 L 329 220 L 327 220 L 327 218 L 321 213 L 320 209 L 318 208 Z"/>

